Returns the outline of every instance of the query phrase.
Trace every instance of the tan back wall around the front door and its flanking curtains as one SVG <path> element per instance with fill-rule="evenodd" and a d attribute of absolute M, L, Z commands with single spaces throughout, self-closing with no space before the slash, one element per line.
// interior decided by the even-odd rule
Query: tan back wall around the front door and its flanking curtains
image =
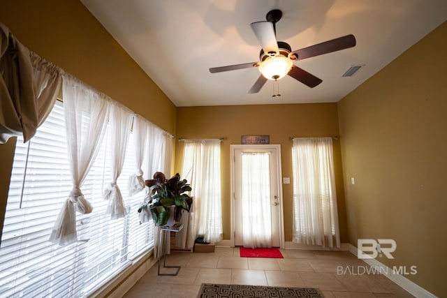
<path fill-rule="evenodd" d="M 177 136 L 189 139 L 220 138 L 223 239 L 230 239 L 230 144 L 241 135 L 270 135 L 270 144 L 281 144 L 282 174 L 292 178 L 292 142 L 288 137 L 338 135 L 335 103 L 296 105 L 235 105 L 178 107 Z M 175 170 L 182 170 L 183 142 L 177 142 Z M 335 141 L 335 168 L 342 241 L 347 241 L 344 190 L 339 142 Z M 292 241 L 293 184 L 283 184 L 286 241 Z"/>

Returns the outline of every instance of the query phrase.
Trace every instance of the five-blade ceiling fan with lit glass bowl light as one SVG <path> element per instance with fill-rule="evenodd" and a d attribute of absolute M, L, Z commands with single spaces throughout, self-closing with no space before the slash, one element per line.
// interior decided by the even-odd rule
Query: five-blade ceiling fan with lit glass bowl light
<path fill-rule="evenodd" d="M 236 64 L 210 68 L 210 73 L 221 73 L 228 70 L 258 67 L 261 75 L 251 87 L 249 94 L 258 93 L 267 80 L 279 80 L 285 75 L 290 75 L 295 80 L 302 82 L 310 88 L 323 82 L 318 77 L 293 64 L 293 61 L 307 59 L 330 52 L 344 50 L 356 45 L 356 38 L 346 35 L 332 40 L 304 47 L 292 51 L 291 46 L 283 41 L 277 41 L 276 23 L 281 20 L 282 12 L 279 9 L 270 10 L 265 19 L 267 21 L 251 23 L 256 38 L 263 47 L 259 54 L 259 62 Z"/>

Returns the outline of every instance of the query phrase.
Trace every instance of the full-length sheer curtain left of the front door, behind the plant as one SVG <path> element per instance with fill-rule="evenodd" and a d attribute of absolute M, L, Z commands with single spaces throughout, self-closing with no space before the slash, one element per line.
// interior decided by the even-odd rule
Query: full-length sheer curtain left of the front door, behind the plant
<path fill-rule="evenodd" d="M 193 207 L 183 247 L 191 248 L 198 236 L 205 242 L 222 239 L 221 140 L 184 142 L 182 177 L 191 184 Z"/>

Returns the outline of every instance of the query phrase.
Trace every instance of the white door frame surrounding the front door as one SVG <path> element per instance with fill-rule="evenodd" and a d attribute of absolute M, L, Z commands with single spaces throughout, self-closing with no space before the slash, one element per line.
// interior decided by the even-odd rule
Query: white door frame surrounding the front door
<path fill-rule="evenodd" d="M 282 165 L 281 165 L 281 144 L 230 144 L 230 213 L 231 213 L 231 232 L 230 245 L 235 247 L 235 150 L 236 149 L 274 149 L 277 154 L 278 167 L 278 203 L 279 203 L 279 248 L 284 248 L 284 208 L 282 192 Z"/>

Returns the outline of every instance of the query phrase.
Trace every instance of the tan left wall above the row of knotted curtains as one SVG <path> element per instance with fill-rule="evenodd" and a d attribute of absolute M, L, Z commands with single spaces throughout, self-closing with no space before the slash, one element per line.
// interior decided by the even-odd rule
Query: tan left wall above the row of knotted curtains
<path fill-rule="evenodd" d="M 175 134 L 175 105 L 80 1 L 0 0 L 0 22 L 30 50 Z M 1 226 L 14 148 L 0 145 Z"/>

